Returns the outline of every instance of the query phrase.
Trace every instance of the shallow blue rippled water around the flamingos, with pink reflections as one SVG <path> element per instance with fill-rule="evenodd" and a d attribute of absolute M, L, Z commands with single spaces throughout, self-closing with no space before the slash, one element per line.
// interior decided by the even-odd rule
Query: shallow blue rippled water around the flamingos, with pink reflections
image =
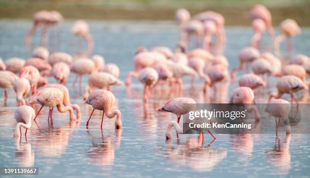
<path fill-rule="evenodd" d="M 72 21 L 61 24 L 61 45 L 58 50 L 71 53 Z M 132 58 L 139 46 L 164 45 L 174 48 L 177 41 L 177 26 L 172 22 L 136 22 L 136 21 L 91 21 L 91 33 L 95 41 L 94 54 L 103 55 L 105 62 L 117 63 L 121 68 L 121 80 L 125 80 L 129 70 L 133 69 Z M 0 55 L 28 58 L 30 53 L 24 45 L 24 37 L 30 28 L 30 21 L 0 21 Z M 57 31 L 57 29 L 53 29 Z M 230 62 L 229 68 L 238 65 L 238 51 L 248 45 L 251 28 L 228 27 L 225 55 Z M 266 35 L 265 35 L 266 36 Z M 39 35 L 33 42 L 38 44 Z M 265 38 L 266 39 L 266 38 Z M 303 28 L 302 34 L 294 38 L 294 53 L 310 55 L 310 29 Z M 56 42 L 55 42 L 56 43 Z M 54 43 L 54 45 L 55 45 Z M 52 42 L 49 43 L 50 47 Z M 53 46 L 52 49 L 56 50 Z M 240 76 L 242 73 L 238 73 Z M 122 177 L 269 177 L 269 176 L 309 176 L 310 156 L 308 134 L 292 134 L 286 137 L 280 128 L 280 141 L 275 134 L 215 134 L 218 138 L 211 143 L 211 136 L 205 134 L 204 146 L 197 135 L 175 135 L 173 140 L 165 140 L 166 126 L 176 117 L 168 113 L 157 113 L 155 108 L 164 104 L 169 90 L 155 90 L 151 99 L 143 104 L 143 87 L 133 79 L 131 89 L 124 86 L 112 87 L 117 97 L 115 108 L 122 112 L 123 128 L 114 130 L 114 120 L 105 118 L 103 132 L 100 130 L 101 112 L 95 111 L 86 129 L 92 108 L 83 104 L 82 97 L 71 87 L 74 74 L 68 81 L 72 103 L 78 103 L 82 110 L 82 119 L 69 121 L 68 114 L 53 113 L 53 123 L 48 123 L 48 109 L 45 108 L 32 123 L 27 140 L 22 137 L 13 139 L 16 109 L 15 94 L 9 92 L 8 106 L 0 108 L 0 167 L 35 166 L 40 169 L 40 177 L 75 176 L 122 176 Z M 83 77 L 83 86 L 87 77 Z M 49 78 L 50 83 L 56 83 Z M 276 79 L 270 79 L 270 86 L 256 91 L 256 102 L 266 102 L 267 94 L 275 90 Z M 196 79 L 195 87 L 185 78 L 183 96 L 189 96 L 197 103 L 226 102 L 237 83 L 224 85 L 219 91 L 205 97 L 203 82 Z M 226 88 L 224 87 L 226 86 Z M 3 102 L 3 91 L 0 91 Z M 210 97 L 211 96 L 211 97 Z M 289 96 L 286 96 L 289 99 Z M 309 102 L 308 93 L 299 93 L 301 102 Z M 24 132 L 24 130 L 23 130 Z"/>

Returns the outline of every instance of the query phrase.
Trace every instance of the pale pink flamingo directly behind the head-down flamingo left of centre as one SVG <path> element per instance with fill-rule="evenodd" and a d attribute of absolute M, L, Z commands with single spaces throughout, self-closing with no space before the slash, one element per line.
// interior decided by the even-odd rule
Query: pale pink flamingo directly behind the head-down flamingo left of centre
<path fill-rule="evenodd" d="M 123 82 L 118 78 L 115 78 L 110 73 L 105 72 L 95 72 L 92 73 L 88 78 L 88 85 L 85 89 L 84 99 L 87 99 L 89 93 L 95 89 L 104 89 L 111 90 L 111 85 L 123 85 Z"/>

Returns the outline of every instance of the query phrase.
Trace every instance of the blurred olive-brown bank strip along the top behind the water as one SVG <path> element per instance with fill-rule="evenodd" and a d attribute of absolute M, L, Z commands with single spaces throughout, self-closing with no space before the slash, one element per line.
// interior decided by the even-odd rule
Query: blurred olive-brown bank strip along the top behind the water
<path fill-rule="evenodd" d="M 57 10 L 65 19 L 173 20 L 177 8 L 190 14 L 213 10 L 225 17 L 226 25 L 249 25 L 246 12 L 254 4 L 265 5 L 274 25 L 292 18 L 300 26 L 309 26 L 308 0 L 0 0 L 0 18 L 31 18 L 38 10 Z"/>

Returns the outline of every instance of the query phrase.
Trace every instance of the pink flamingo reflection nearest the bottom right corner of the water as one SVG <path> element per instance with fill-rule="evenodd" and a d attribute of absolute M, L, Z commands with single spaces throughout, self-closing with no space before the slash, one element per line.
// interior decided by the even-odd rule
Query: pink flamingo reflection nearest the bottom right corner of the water
<path fill-rule="evenodd" d="M 288 174 L 291 168 L 290 142 L 290 134 L 286 135 L 282 145 L 280 138 L 277 138 L 273 149 L 265 151 L 267 161 L 275 166 L 279 175 Z"/>

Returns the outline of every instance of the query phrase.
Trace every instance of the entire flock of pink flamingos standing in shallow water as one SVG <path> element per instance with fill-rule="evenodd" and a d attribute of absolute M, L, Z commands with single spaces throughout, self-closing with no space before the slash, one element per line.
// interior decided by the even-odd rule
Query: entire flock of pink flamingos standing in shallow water
<path fill-rule="evenodd" d="M 292 101 L 298 103 L 294 93 L 308 89 L 306 74 L 310 73 L 310 60 L 307 56 L 298 54 L 292 56 L 291 39 L 301 32 L 298 24 L 292 19 L 286 19 L 280 24 L 281 33 L 275 37 L 270 12 L 262 5 L 255 5 L 249 11 L 252 19 L 253 37 L 249 46 L 240 50 L 238 57 L 240 65 L 228 71 L 229 62 L 223 55 L 226 35 L 224 17 L 213 11 L 206 11 L 195 16 L 190 15 L 186 9 L 176 11 L 176 20 L 179 24 L 179 40 L 175 52 L 168 47 L 157 46 L 150 49 L 139 47 L 133 59 L 134 71 L 129 72 L 126 87 L 130 87 L 132 77 L 144 85 L 143 102 L 150 99 L 152 89 L 167 85 L 173 93 L 181 93 L 183 88 L 182 78 L 196 76 L 203 80 L 203 92 L 213 89 L 221 90 L 221 82 L 231 82 L 236 79 L 238 71 L 245 67 L 248 72 L 239 78 L 239 86 L 230 96 L 230 103 L 255 104 L 253 90 L 268 85 L 269 76 L 278 77 L 277 93 L 270 93 L 266 112 L 276 118 L 276 129 L 279 122 L 287 116 L 287 104 L 290 102 L 281 99 L 283 94 L 291 94 Z M 71 28 L 75 35 L 87 41 L 87 50 L 80 57 L 64 52 L 50 54 L 46 48 L 47 30 L 49 27 L 63 21 L 63 17 L 56 11 L 39 11 L 33 16 L 33 27 L 27 33 L 26 45 L 32 50 L 32 57 L 24 60 L 10 58 L 5 61 L 0 59 L 0 87 L 4 88 L 4 105 L 6 106 L 7 89 L 13 88 L 16 92 L 18 108 L 15 111 L 17 122 L 15 137 L 21 137 L 21 127 L 24 127 L 25 136 L 27 129 L 31 128 L 31 121 L 35 121 L 44 106 L 50 109 L 48 120 L 52 119 L 54 106 L 60 113 L 68 112 L 69 119 L 81 119 L 81 110 L 78 104 L 70 102 L 69 92 L 66 87 L 67 79 L 71 73 L 76 74 L 72 85 L 79 82 L 82 88 L 82 76 L 89 75 L 88 86 L 83 95 L 84 103 L 90 104 L 94 110 L 103 111 L 101 129 L 104 117 L 115 119 L 115 129 L 122 129 L 120 110 L 112 110 L 115 96 L 111 92 L 112 85 L 124 85 L 119 78 L 120 69 L 117 64 L 105 64 L 101 55 L 89 57 L 94 47 L 94 42 L 89 31 L 89 25 L 84 20 L 78 20 Z M 32 49 L 31 36 L 39 26 L 42 26 L 41 46 Z M 269 44 L 262 48 L 261 38 L 264 31 L 269 33 Z M 287 53 L 284 57 L 280 52 L 280 43 L 287 38 Z M 274 52 L 274 54 L 272 53 Z M 54 77 L 59 84 L 48 84 L 48 77 Z M 193 80 L 192 80 L 193 83 Z M 218 87 L 216 87 L 218 85 Z M 292 102 L 291 101 L 291 102 Z M 172 127 L 177 133 L 183 133 L 179 126 L 182 115 L 193 108 L 183 107 L 184 103 L 195 104 L 196 101 L 189 97 L 176 97 L 170 99 L 165 105 L 157 108 L 158 112 L 170 112 L 177 116 L 177 122 L 170 121 L 166 138 L 172 138 Z M 278 103 L 277 106 L 273 105 Z M 35 104 L 41 108 L 35 112 Z M 256 120 L 260 116 L 255 111 Z M 91 113 L 86 127 L 90 124 Z M 282 118 L 282 119 L 280 119 Z M 208 131 L 214 139 L 216 137 Z M 290 134 L 290 128 L 286 129 Z M 200 132 L 200 137 L 204 133 Z"/>

